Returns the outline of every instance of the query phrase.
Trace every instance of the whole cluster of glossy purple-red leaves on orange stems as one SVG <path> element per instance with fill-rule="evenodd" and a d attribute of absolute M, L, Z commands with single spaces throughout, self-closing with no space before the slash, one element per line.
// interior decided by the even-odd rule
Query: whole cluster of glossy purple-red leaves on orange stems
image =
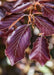
<path fill-rule="evenodd" d="M 25 49 L 31 43 L 31 30 L 35 26 L 40 30 L 40 34 L 29 58 L 41 65 L 50 59 L 46 36 L 54 34 L 53 2 L 53 0 L 18 0 L 5 2 L 0 6 L 0 37 L 6 37 L 5 55 L 11 65 L 23 59 Z"/>

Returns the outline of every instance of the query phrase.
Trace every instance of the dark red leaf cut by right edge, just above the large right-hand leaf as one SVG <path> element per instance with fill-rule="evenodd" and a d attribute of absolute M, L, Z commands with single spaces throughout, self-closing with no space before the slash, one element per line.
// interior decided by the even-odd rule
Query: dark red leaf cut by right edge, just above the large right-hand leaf
<path fill-rule="evenodd" d="M 43 13 L 44 17 L 47 17 L 49 20 L 51 20 L 52 22 L 54 22 L 54 9 L 45 6 L 42 9 L 42 13 Z"/>

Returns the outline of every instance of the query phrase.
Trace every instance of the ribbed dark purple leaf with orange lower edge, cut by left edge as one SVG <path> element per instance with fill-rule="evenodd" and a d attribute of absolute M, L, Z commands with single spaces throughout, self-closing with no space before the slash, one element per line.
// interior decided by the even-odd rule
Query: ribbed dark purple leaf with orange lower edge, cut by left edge
<path fill-rule="evenodd" d="M 0 30 L 6 29 L 11 25 L 12 26 L 15 25 L 21 16 L 24 16 L 24 15 L 23 14 L 13 15 L 12 14 L 12 15 L 6 16 L 2 21 L 0 21 Z"/>

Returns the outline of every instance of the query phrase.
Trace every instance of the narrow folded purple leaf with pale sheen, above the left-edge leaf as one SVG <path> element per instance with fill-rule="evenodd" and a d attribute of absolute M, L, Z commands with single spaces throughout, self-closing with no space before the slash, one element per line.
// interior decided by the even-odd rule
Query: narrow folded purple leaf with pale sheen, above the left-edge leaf
<path fill-rule="evenodd" d="M 16 7 L 15 9 L 11 10 L 11 13 L 19 13 L 25 11 L 28 7 L 32 5 L 31 2 L 28 2 L 26 4 L 22 4 L 21 6 Z"/>

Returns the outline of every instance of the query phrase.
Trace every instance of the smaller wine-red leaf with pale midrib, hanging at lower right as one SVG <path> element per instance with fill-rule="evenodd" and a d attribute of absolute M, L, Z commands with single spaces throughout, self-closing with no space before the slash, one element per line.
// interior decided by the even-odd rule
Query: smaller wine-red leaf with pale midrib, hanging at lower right
<path fill-rule="evenodd" d="M 39 37 L 35 41 L 29 58 L 38 61 L 41 65 L 50 59 L 48 43 L 44 37 Z"/>

